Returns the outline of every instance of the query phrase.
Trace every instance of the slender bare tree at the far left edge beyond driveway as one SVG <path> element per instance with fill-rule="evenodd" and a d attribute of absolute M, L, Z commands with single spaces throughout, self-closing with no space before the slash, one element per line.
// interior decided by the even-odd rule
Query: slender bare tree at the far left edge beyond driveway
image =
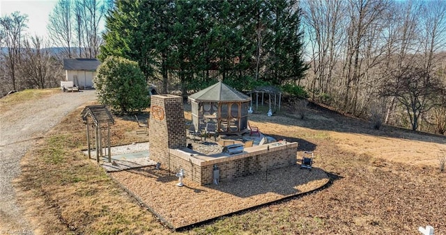
<path fill-rule="evenodd" d="M 11 15 L 6 15 L 0 18 L 0 25 L 4 32 L 4 40 L 8 53 L 6 56 L 6 70 L 8 71 L 9 79 L 13 85 L 13 90 L 17 90 L 17 69 L 20 63 L 20 49 L 23 37 L 23 31 L 27 27 L 27 15 L 20 15 L 19 12 L 14 12 Z"/>

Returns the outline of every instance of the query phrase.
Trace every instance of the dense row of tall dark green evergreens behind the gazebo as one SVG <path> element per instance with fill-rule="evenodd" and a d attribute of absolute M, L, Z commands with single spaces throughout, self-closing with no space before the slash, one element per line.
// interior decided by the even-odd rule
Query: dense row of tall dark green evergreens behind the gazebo
<path fill-rule="evenodd" d="M 300 15 L 297 0 L 115 1 L 98 57 L 137 61 L 162 92 L 185 96 L 217 80 L 281 86 L 307 69 Z"/>

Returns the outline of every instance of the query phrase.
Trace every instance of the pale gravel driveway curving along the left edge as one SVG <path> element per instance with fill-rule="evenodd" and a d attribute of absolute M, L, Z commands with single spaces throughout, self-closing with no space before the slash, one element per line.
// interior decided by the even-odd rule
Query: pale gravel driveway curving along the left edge
<path fill-rule="evenodd" d="M 8 111 L 0 107 L 0 234 L 33 234 L 34 227 L 22 216 L 11 184 L 20 175 L 20 159 L 64 115 L 95 99 L 95 90 L 84 90 L 31 100 Z"/>

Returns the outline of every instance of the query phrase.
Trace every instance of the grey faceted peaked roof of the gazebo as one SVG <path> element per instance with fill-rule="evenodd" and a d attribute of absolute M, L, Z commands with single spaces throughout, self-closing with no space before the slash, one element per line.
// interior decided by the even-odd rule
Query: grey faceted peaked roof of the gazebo
<path fill-rule="evenodd" d="M 195 102 L 247 102 L 251 97 L 219 81 L 189 96 Z"/>

